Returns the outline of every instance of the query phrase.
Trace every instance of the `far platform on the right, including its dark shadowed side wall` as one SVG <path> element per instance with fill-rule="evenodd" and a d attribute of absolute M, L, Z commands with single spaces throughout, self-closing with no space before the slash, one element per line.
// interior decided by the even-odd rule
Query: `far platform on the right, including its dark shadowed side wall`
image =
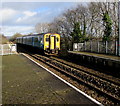
<path fill-rule="evenodd" d="M 68 56 L 79 63 L 109 71 L 120 76 L 120 57 L 89 52 L 68 51 Z M 113 73 L 114 72 L 114 73 Z"/>

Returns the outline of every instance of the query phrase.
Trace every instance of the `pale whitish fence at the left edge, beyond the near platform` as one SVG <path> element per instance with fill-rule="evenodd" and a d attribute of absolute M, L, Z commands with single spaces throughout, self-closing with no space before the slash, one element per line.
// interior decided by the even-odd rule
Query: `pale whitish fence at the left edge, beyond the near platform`
<path fill-rule="evenodd" d="M 15 54 L 16 50 L 16 44 L 0 44 L 0 55 Z"/>

